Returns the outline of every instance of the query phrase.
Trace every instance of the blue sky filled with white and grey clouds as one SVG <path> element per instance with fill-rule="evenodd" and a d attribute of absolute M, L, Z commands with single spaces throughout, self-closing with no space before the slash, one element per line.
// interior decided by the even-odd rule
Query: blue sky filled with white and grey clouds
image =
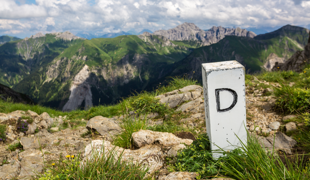
<path fill-rule="evenodd" d="M 302 0 L 0 0 L 0 35 L 42 32 L 170 29 L 191 22 L 272 29 L 310 24 L 310 1 Z"/>

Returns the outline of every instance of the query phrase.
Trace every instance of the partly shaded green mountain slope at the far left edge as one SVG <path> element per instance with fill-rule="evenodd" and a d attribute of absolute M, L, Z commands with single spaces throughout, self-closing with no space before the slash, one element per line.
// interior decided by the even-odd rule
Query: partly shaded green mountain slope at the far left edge
<path fill-rule="evenodd" d="M 58 36 L 61 34 L 58 34 Z M 11 41 L 0 46 L 0 83 L 14 86 L 28 74 L 58 56 L 65 48 L 83 41 L 65 39 L 56 34 Z"/>

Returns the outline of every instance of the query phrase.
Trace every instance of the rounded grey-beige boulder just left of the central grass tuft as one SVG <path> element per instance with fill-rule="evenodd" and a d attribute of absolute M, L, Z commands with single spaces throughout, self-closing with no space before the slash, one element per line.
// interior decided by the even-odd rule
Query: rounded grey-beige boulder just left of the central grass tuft
<path fill-rule="evenodd" d="M 86 124 L 88 130 L 95 129 L 101 136 L 113 135 L 122 131 L 116 120 L 111 120 L 102 116 L 95 116 Z"/>

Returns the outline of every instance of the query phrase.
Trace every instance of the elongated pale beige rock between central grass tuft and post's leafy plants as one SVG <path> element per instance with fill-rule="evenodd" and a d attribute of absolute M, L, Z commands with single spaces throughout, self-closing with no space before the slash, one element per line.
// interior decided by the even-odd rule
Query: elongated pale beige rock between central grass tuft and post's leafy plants
<path fill-rule="evenodd" d="M 176 137 L 172 133 L 162 133 L 142 129 L 138 132 L 132 133 L 132 140 L 134 145 L 139 148 L 150 144 L 161 147 L 171 147 L 179 145 L 180 143 L 190 145 L 193 142 L 191 139 L 181 139 Z"/>

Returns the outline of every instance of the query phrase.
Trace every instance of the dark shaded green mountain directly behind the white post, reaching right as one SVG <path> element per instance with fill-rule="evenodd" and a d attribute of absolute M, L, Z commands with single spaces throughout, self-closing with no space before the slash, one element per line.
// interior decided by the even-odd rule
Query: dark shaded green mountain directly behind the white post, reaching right
<path fill-rule="evenodd" d="M 172 71 L 167 75 L 189 74 L 190 77 L 193 76 L 193 78 L 201 81 L 202 63 L 232 60 L 236 60 L 244 65 L 247 72 L 260 71 L 268 66 L 268 63 L 272 64 L 276 60 L 287 60 L 296 51 L 303 50 L 303 45 L 299 42 L 309 38 L 308 34 L 303 34 L 302 38 L 296 38 L 300 36 L 290 31 L 287 31 L 286 35 L 288 36 L 278 35 L 273 37 L 265 35 L 263 40 L 227 36 L 218 43 L 193 50 L 188 57 L 171 65 L 169 69 Z M 268 37 L 273 38 L 267 39 Z M 297 42 L 294 39 L 302 41 Z"/>

